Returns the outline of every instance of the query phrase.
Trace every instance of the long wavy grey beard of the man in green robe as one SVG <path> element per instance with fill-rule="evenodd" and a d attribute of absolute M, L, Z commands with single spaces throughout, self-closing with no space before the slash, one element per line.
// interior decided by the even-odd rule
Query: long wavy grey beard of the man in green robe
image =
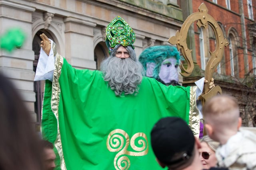
<path fill-rule="evenodd" d="M 139 61 L 134 61 L 131 57 L 127 59 L 108 57 L 102 61 L 101 70 L 104 80 L 108 81 L 116 96 L 121 96 L 123 92 L 134 95 L 138 93 L 138 84 L 142 81 L 143 72 L 143 66 Z"/>

